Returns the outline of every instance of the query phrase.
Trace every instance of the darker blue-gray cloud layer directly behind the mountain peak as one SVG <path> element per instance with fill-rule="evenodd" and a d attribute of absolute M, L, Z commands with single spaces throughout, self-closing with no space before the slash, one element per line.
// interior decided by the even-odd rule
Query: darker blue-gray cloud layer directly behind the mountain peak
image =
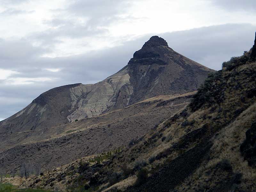
<path fill-rule="evenodd" d="M 242 55 L 243 51 L 252 47 L 255 30 L 256 26 L 250 24 L 227 24 L 172 33 L 148 34 L 113 48 L 58 58 L 40 57 L 41 53 L 48 50 L 35 48 L 24 40 L 20 42 L 2 40 L 1 50 L 6 47 L 8 50 L 0 54 L 0 68 L 20 72 L 13 74 L 10 78 L 47 77 L 52 81 L 10 85 L 2 80 L 0 82 L 0 118 L 13 115 L 50 88 L 74 83 L 96 83 L 116 73 L 152 35 L 165 38 L 171 48 L 184 56 L 219 70 L 223 61 L 229 60 L 232 56 Z M 86 42 L 82 43 L 86 44 Z M 50 72 L 45 68 L 61 70 Z"/>

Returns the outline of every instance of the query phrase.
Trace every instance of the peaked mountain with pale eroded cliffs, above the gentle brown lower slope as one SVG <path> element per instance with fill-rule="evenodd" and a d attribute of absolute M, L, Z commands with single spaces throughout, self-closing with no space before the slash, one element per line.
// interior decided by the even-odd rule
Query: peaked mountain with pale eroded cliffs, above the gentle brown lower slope
<path fill-rule="evenodd" d="M 96 84 L 72 84 L 44 92 L 26 108 L 0 122 L 0 134 L 67 124 L 98 116 L 157 95 L 195 91 L 206 68 L 152 36 L 128 65 Z"/>

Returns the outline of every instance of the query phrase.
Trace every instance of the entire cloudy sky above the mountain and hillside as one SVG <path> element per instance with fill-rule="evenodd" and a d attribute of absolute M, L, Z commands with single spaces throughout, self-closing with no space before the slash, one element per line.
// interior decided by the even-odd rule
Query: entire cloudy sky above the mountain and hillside
<path fill-rule="evenodd" d="M 150 36 L 220 70 L 253 45 L 255 0 L 0 0 L 0 120 L 41 93 L 97 83 Z"/>

